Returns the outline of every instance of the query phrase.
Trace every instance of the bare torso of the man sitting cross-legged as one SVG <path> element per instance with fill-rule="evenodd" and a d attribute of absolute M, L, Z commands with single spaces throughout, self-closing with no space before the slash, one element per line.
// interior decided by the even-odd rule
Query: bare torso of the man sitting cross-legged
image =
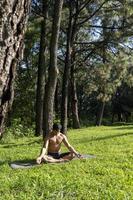
<path fill-rule="evenodd" d="M 61 148 L 61 143 L 63 141 L 63 134 L 57 133 L 57 135 L 54 135 L 54 132 L 51 132 L 48 140 L 49 140 L 48 152 L 50 153 L 59 152 Z"/>

